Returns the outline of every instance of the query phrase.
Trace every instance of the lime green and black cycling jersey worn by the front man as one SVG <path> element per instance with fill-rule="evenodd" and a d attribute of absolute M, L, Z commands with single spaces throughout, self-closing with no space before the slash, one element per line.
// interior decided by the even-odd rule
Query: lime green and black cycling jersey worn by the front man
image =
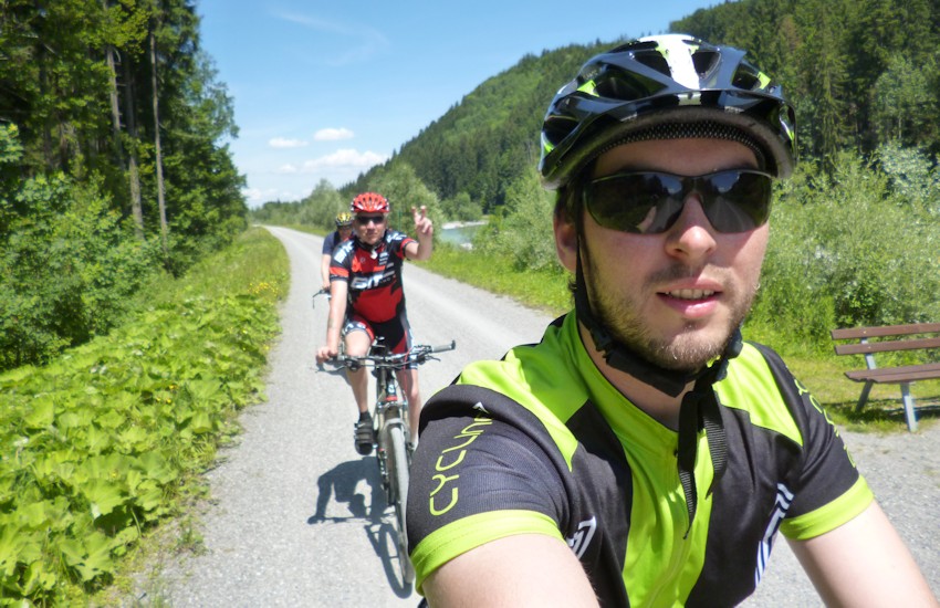
<path fill-rule="evenodd" d="M 418 589 L 462 553 L 535 533 L 571 546 L 603 606 L 730 606 L 754 591 L 779 530 L 811 538 L 871 502 L 835 427 L 775 353 L 745 343 L 714 390 L 728 464 L 708 494 L 700 431 L 689 527 L 678 433 L 604 378 L 574 315 L 537 345 L 466 368 L 421 415 L 408 496 Z"/>

